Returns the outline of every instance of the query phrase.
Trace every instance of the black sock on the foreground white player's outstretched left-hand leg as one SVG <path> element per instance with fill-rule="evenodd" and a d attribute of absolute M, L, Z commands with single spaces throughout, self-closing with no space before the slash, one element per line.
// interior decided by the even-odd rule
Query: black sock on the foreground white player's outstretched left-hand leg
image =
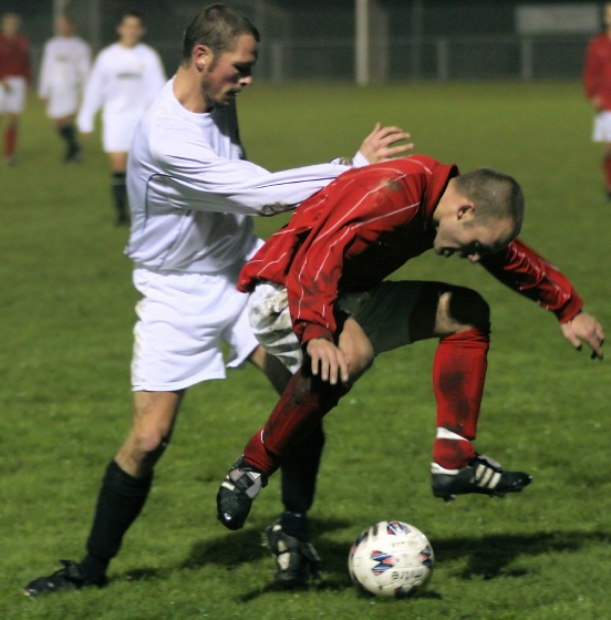
<path fill-rule="evenodd" d="M 118 554 L 123 536 L 146 502 L 152 482 L 153 475 L 135 478 L 114 461 L 106 468 L 87 539 L 87 555 L 81 561 L 87 579 L 103 580 L 110 561 Z"/>

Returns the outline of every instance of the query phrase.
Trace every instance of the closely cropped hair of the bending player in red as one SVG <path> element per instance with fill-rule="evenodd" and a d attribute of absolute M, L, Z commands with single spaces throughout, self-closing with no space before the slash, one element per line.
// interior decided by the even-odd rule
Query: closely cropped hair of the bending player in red
<path fill-rule="evenodd" d="M 510 219 L 517 236 L 524 221 L 524 193 L 514 177 L 494 168 L 477 168 L 456 177 L 456 189 L 473 200 L 479 223 Z"/>

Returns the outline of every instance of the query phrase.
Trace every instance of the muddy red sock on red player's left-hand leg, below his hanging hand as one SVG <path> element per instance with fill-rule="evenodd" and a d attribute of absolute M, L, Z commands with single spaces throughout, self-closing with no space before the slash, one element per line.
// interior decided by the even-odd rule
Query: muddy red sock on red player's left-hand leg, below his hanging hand
<path fill-rule="evenodd" d="M 245 458 L 260 472 L 272 474 L 287 451 L 307 437 L 349 390 L 343 384 L 331 385 L 318 378 L 303 376 L 299 370 L 263 428 L 246 445 Z"/>

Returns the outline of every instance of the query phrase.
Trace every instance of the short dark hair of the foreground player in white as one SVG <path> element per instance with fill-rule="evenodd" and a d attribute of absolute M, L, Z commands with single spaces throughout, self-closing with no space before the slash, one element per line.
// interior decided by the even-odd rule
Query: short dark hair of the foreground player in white
<path fill-rule="evenodd" d="M 250 34 L 260 41 L 259 31 L 252 22 L 226 4 L 210 4 L 203 9 L 185 30 L 182 64 L 189 64 L 195 45 L 207 45 L 215 55 L 232 49 L 236 39 Z"/>

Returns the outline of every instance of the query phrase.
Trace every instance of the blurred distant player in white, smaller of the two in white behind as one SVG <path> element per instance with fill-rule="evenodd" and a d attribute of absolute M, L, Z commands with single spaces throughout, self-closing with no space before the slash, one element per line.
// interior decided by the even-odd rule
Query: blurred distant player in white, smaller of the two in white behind
<path fill-rule="evenodd" d="M 44 44 L 39 95 L 46 104 L 46 114 L 65 142 L 64 162 L 80 162 L 82 151 L 76 138 L 74 118 L 91 66 L 90 46 L 74 34 L 69 16 L 55 22 L 55 37 Z"/>

